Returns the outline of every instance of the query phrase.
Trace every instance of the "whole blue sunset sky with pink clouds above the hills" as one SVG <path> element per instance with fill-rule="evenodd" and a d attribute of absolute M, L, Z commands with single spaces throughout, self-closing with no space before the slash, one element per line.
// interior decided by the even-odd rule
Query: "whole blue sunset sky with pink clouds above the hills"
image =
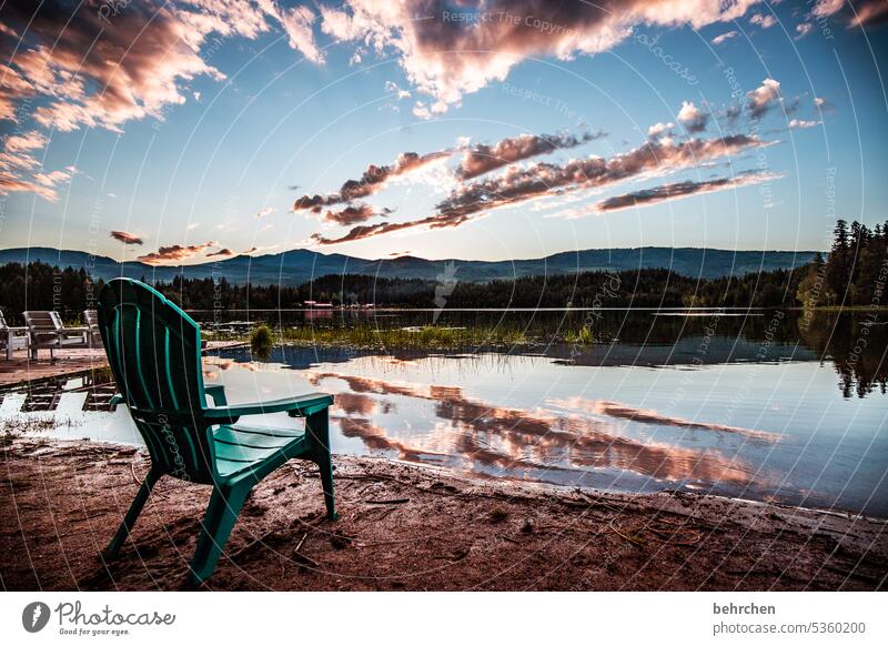
<path fill-rule="evenodd" d="M 2 248 L 502 260 L 888 220 L 885 0 L 1 7 Z"/>

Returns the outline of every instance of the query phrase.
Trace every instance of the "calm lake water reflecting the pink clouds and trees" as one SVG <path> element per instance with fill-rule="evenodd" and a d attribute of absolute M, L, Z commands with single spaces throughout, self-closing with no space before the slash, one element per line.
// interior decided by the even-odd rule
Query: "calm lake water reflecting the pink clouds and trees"
<path fill-rule="evenodd" d="M 406 325 L 431 315 L 377 313 L 371 322 Z M 448 316 L 442 324 L 498 316 L 531 331 L 587 319 L 582 312 Z M 311 324 L 350 323 L 333 313 Z M 205 357 L 204 377 L 224 384 L 232 403 L 334 394 L 336 453 L 486 477 L 685 488 L 888 516 L 882 321 L 608 312 L 594 327 L 599 344 L 548 345 L 541 337 L 532 353 L 275 347 L 258 362 L 245 349 L 224 351 Z M 39 433 L 139 442 L 123 408 L 84 412 L 88 395 L 77 392 L 84 384 L 62 385 L 68 392 L 51 413 L 22 413 L 26 393 L 8 393 L 0 421 L 30 416 L 47 420 Z M 285 415 L 250 422 L 293 423 Z"/>

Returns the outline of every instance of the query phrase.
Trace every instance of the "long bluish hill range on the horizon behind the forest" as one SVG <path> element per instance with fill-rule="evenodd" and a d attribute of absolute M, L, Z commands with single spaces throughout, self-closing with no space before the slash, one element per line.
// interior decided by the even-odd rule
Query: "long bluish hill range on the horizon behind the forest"
<path fill-rule="evenodd" d="M 323 254 L 305 249 L 283 253 L 239 255 L 218 262 L 185 266 L 152 266 L 141 262 L 120 263 L 110 258 L 91 256 L 83 251 L 51 248 L 0 250 L 0 264 L 42 261 L 58 266 L 84 268 L 97 277 L 142 277 L 171 281 L 176 274 L 186 277 L 225 277 L 235 284 L 299 285 L 327 274 L 365 274 L 383 277 L 440 280 L 440 275 L 457 281 L 486 282 L 527 275 L 564 274 L 586 271 L 620 271 L 638 268 L 668 268 L 686 276 L 713 279 L 726 275 L 793 269 L 810 262 L 814 251 L 725 251 L 668 246 L 634 249 L 589 249 L 566 251 L 539 259 L 514 261 L 425 260 L 402 256 L 365 260 L 339 253 Z M 450 264 L 452 263 L 452 265 Z M 448 266 L 450 265 L 450 266 Z M 454 271 L 455 270 L 455 271 Z"/>

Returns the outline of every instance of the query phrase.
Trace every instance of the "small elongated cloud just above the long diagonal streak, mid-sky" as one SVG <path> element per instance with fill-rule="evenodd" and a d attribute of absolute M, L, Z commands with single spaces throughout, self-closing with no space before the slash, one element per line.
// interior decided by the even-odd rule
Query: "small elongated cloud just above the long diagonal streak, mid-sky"
<path fill-rule="evenodd" d="M 463 180 L 471 180 L 513 162 L 548 154 L 558 149 L 576 148 L 601 137 L 604 137 L 601 132 L 586 132 L 579 137 L 566 132 L 522 134 L 504 139 L 494 145 L 478 143 L 466 151 L 458 175 Z"/>

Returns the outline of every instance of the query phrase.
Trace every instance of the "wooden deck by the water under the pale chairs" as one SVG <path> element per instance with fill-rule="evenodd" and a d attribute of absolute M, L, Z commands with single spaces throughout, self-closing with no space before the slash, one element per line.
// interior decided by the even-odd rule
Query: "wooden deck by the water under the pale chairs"
<path fill-rule="evenodd" d="M 206 349 L 222 350 L 242 345 L 246 343 L 211 341 Z M 50 361 L 49 351 L 41 351 L 40 359 L 30 360 L 28 353 L 22 351 L 17 352 L 12 361 L 0 360 L 0 387 L 108 367 L 108 359 L 102 349 L 59 350 L 56 355 L 56 361 Z"/>

